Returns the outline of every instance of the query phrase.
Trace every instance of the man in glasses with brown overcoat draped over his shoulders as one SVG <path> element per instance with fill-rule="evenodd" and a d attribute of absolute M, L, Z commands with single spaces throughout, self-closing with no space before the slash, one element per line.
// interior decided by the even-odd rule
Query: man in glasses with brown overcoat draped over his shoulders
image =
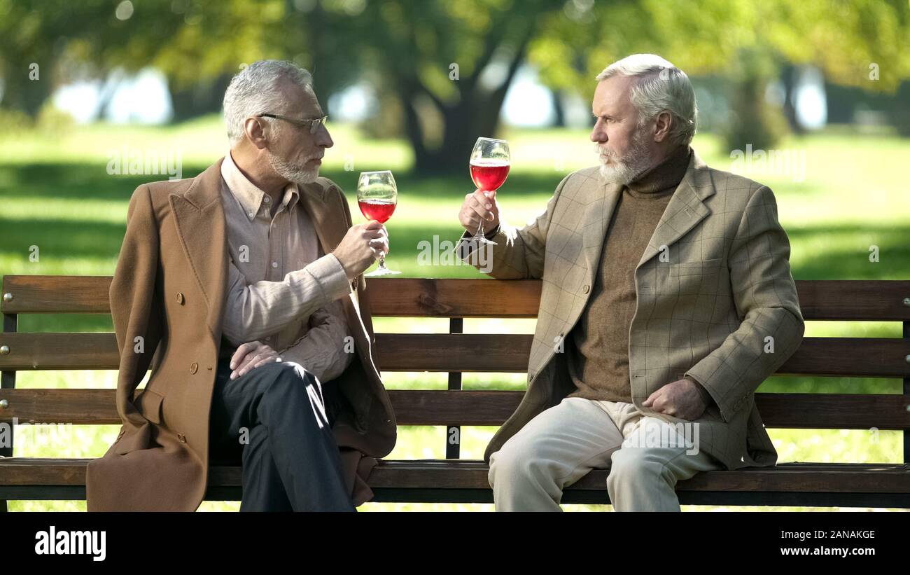
<path fill-rule="evenodd" d="M 224 113 L 224 158 L 130 200 L 110 287 L 123 429 L 88 509 L 197 509 L 212 463 L 242 465 L 241 510 L 353 510 L 395 444 L 362 277 L 388 237 L 319 177 L 311 76 L 256 62 Z"/>

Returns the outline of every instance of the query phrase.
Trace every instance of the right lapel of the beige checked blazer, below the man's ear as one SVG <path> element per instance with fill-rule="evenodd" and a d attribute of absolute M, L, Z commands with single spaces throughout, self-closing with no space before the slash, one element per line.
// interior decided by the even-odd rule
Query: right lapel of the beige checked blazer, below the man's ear
<path fill-rule="evenodd" d="M 636 268 L 642 267 L 646 261 L 659 254 L 662 247 L 670 247 L 708 217 L 711 208 L 705 206 L 703 200 L 713 194 L 711 174 L 702 159 L 693 152 L 689 168 L 673 192 Z"/>

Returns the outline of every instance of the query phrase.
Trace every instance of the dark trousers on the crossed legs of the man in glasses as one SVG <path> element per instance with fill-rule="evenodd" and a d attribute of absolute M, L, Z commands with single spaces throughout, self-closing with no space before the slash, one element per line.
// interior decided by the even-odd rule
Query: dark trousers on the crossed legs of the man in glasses
<path fill-rule="evenodd" d="M 241 511 L 352 511 L 331 423 L 339 409 L 295 363 L 273 362 L 230 378 L 218 361 L 209 419 L 213 464 L 243 466 Z"/>

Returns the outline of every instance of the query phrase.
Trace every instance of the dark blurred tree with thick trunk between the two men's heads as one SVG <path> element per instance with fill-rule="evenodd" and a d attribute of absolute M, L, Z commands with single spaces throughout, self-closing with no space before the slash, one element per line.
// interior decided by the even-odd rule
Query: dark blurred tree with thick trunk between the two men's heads
<path fill-rule="evenodd" d="M 395 96 L 392 109 L 403 116 L 401 132 L 424 172 L 465 169 L 477 136 L 496 133 L 541 15 L 562 7 L 546 0 L 289 4 L 288 23 L 305 31 L 290 41 L 311 55 L 320 89 L 331 92 L 359 76 Z M 345 70 L 359 74 L 340 76 Z"/>

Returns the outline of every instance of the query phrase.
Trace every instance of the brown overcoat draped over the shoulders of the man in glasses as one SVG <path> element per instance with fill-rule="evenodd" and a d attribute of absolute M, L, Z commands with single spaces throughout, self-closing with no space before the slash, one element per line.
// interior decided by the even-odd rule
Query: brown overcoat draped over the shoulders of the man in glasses
<path fill-rule="evenodd" d="M 195 178 L 136 188 L 110 287 L 120 352 L 116 407 L 123 426 L 104 457 L 86 469 L 90 511 L 198 508 L 208 482 L 208 418 L 227 294 L 227 235 L 221 160 Z M 351 217 L 327 178 L 301 190 L 300 203 L 324 253 L 338 246 Z M 366 282 L 342 299 L 359 361 L 332 385 L 349 399 L 332 430 L 357 505 L 365 479 L 395 445 L 396 421 L 373 356 Z M 151 368 L 145 390 L 139 383 Z"/>

